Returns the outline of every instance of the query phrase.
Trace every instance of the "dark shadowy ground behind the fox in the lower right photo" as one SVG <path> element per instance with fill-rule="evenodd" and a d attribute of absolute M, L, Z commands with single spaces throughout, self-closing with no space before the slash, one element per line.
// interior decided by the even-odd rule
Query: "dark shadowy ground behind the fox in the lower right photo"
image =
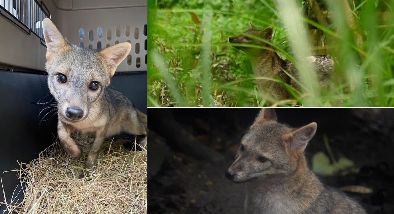
<path fill-rule="evenodd" d="M 148 213 L 243 213 L 244 184 L 224 172 L 259 108 L 149 108 Z M 292 127 L 311 122 L 317 132 L 305 155 L 327 149 L 346 157 L 358 173 L 319 176 L 329 186 L 358 185 L 372 194 L 346 192 L 368 213 L 394 213 L 394 110 L 390 108 L 277 108 Z M 341 175 L 342 174 L 342 175 Z"/>

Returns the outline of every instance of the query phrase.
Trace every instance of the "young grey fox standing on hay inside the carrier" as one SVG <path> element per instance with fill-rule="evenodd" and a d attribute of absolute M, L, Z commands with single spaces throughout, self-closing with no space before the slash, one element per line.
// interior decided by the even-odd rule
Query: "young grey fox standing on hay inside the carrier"
<path fill-rule="evenodd" d="M 126 132 L 145 136 L 147 116 L 134 108 L 122 93 L 107 88 L 117 66 L 131 50 L 119 43 L 102 50 L 89 50 L 69 43 L 50 19 L 43 20 L 47 46 L 48 87 L 58 102 L 58 138 L 66 152 L 78 158 L 82 148 L 71 138 L 73 130 L 95 138 L 80 178 L 91 173 L 105 138 Z"/>

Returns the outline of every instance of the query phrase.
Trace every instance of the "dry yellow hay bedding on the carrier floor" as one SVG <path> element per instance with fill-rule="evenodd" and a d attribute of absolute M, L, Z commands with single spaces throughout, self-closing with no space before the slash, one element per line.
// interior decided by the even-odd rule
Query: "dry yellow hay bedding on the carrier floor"
<path fill-rule="evenodd" d="M 91 143 L 85 135 L 73 138 L 84 148 L 85 158 L 73 159 L 59 143 L 54 143 L 39 158 L 28 164 L 20 163 L 16 171 L 20 183 L 26 184 L 25 197 L 21 202 L 6 204 L 6 212 L 146 213 L 146 150 L 130 151 L 122 143 L 106 141 L 91 179 L 78 179 Z"/>

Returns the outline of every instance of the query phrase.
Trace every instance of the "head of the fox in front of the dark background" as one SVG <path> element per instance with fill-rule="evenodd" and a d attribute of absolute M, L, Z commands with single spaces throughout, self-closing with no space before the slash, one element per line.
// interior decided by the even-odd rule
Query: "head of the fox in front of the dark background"
<path fill-rule="evenodd" d="M 268 181 L 294 174 L 299 169 L 299 161 L 305 160 L 303 151 L 316 127 L 316 123 L 310 123 L 290 128 L 277 122 L 275 110 L 262 109 L 243 136 L 226 177 L 234 182 Z"/>

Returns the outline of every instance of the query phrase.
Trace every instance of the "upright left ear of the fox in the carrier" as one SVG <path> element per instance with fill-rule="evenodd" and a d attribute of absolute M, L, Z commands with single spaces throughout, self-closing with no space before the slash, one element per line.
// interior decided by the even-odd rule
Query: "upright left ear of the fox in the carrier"
<path fill-rule="evenodd" d="M 49 60 L 53 54 L 58 53 L 70 43 L 61 35 L 58 28 L 48 18 L 43 20 L 43 33 L 46 43 L 46 59 Z"/>

